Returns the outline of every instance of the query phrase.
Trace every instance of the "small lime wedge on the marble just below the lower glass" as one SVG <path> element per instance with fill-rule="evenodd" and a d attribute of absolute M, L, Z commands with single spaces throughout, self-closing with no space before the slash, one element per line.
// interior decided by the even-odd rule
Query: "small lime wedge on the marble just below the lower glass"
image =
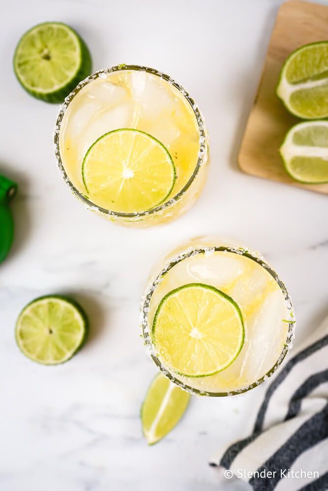
<path fill-rule="evenodd" d="M 189 398 L 188 392 L 163 374 L 154 377 L 141 408 L 143 433 L 149 445 L 157 443 L 176 426 Z"/>

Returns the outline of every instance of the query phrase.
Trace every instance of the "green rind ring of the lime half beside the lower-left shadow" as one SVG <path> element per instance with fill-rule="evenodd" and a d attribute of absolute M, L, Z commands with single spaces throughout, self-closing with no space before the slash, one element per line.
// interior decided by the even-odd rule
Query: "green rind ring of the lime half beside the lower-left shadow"
<path fill-rule="evenodd" d="M 19 338 L 19 330 L 20 330 L 20 320 L 22 319 L 23 315 L 30 309 L 32 305 L 35 305 L 38 302 L 42 302 L 43 300 L 58 300 L 61 302 L 64 302 L 67 306 L 69 306 L 72 310 L 74 309 L 75 313 L 78 314 L 80 317 L 80 326 L 82 327 L 82 335 L 79 339 L 78 344 L 75 346 L 73 350 L 67 353 L 67 355 L 63 358 L 60 359 L 59 361 L 51 361 L 51 362 L 46 362 L 46 361 L 41 361 L 37 359 L 35 356 L 32 356 L 30 352 L 28 352 L 26 349 L 24 349 L 24 346 L 21 343 L 21 340 Z M 69 359 L 71 359 L 74 355 L 76 355 L 85 345 L 87 337 L 89 333 L 89 319 L 88 316 L 85 312 L 85 310 L 82 308 L 82 306 L 74 299 L 65 296 L 65 295 L 44 295 L 42 297 L 38 297 L 32 301 L 30 301 L 21 311 L 21 313 L 18 316 L 18 319 L 16 321 L 16 326 L 15 326 L 15 340 L 18 348 L 20 351 L 23 353 L 23 355 L 27 356 L 31 361 L 34 361 L 35 363 L 38 363 L 40 365 L 46 365 L 46 366 L 55 366 L 55 365 L 60 365 L 62 363 L 65 363 Z"/>

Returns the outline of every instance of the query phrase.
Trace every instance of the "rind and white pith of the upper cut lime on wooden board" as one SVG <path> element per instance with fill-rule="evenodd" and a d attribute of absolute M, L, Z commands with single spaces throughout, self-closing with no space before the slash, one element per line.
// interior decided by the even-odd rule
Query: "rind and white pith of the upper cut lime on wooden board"
<path fill-rule="evenodd" d="M 314 42 L 314 43 L 309 43 L 309 44 L 300 46 L 297 50 L 293 51 L 293 53 L 291 53 L 291 55 L 289 55 L 286 58 L 283 66 L 281 68 L 278 85 L 276 87 L 276 95 L 282 101 L 285 108 L 289 112 L 291 112 L 294 116 L 297 116 L 298 118 L 304 119 L 304 120 L 325 119 L 328 117 L 328 110 L 327 110 L 327 113 L 322 114 L 320 116 L 318 116 L 318 115 L 311 116 L 309 114 L 304 115 L 292 106 L 292 104 L 290 103 L 290 96 L 293 93 L 297 92 L 298 90 L 301 90 L 302 88 L 311 88 L 311 84 L 313 87 L 325 85 L 325 81 L 326 81 L 326 84 L 328 82 L 328 77 L 326 79 L 321 79 L 319 81 L 313 80 L 313 81 L 309 81 L 309 82 L 305 82 L 305 83 L 293 84 L 293 83 L 290 83 L 287 81 L 286 72 L 287 72 L 287 69 L 288 69 L 288 66 L 289 66 L 289 63 L 291 62 L 291 60 L 293 60 L 293 58 L 295 58 L 300 52 L 306 51 L 309 48 L 311 49 L 315 46 L 320 46 L 320 45 L 328 46 L 328 41 L 318 41 L 318 42 Z M 328 69 L 328 66 L 327 66 L 327 69 Z"/>

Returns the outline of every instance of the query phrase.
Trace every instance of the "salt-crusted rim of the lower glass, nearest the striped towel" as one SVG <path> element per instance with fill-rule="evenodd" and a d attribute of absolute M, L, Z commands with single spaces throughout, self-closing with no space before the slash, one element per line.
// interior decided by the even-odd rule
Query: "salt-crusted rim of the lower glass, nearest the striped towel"
<path fill-rule="evenodd" d="M 284 348 L 279 355 L 277 361 L 275 364 L 268 370 L 268 372 L 263 375 L 260 379 L 258 379 L 255 382 L 252 382 L 249 384 L 247 387 L 237 389 L 237 390 L 232 390 L 232 391 L 227 391 L 227 392 L 211 392 L 207 390 L 201 390 L 197 389 L 195 387 L 191 387 L 190 385 L 187 385 L 183 383 L 181 380 L 176 378 L 169 370 L 161 363 L 159 358 L 155 355 L 154 351 L 154 346 L 151 341 L 150 337 L 150 330 L 151 327 L 149 326 L 148 323 L 148 317 L 149 317 L 149 304 L 150 300 L 152 297 L 152 294 L 154 293 L 156 287 L 158 284 L 161 282 L 161 279 L 163 276 L 168 273 L 174 266 L 176 266 L 179 262 L 183 261 L 184 259 L 187 259 L 188 257 L 196 256 L 198 254 L 206 254 L 209 253 L 209 251 L 226 251 L 226 252 L 233 252 L 235 254 L 243 255 L 252 261 L 260 264 L 267 272 L 273 277 L 273 279 L 276 281 L 278 284 L 283 296 L 284 296 L 284 303 L 288 311 L 290 312 L 291 318 L 293 320 L 286 320 L 286 322 L 289 324 L 288 326 L 288 332 L 287 332 L 287 337 L 284 343 Z M 154 363 L 158 366 L 159 370 L 172 382 L 176 383 L 179 385 L 181 388 L 184 390 L 187 390 L 188 392 L 191 392 L 193 394 L 197 395 L 206 395 L 206 396 L 212 396 L 212 397 L 225 397 L 225 396 L 232 396 L 232 395 L 238 395 L 244 392 L 248 392 L 249 390 L 257 387 L 264 381 L 268 380 L 269 377 L 275 373 L 279 365 L 283 362 L 285 356 L 287 355 L 288 351 L 292 348 L 292 340 L 295 337 L 295 317 L 294 317 L 294 309 L 293 309 L 293 304 L 292 300 L 290 298 L 290 295 L 287 291 L 287 288 L 285 287 L 284 283 L 282 280 L 279 278 L 278 274 L 270 267 L 268 264 L 265 262 L 263 257 L 260 254 L 251 252 L 249 249 L 245 249 L 243 247 L 230 247 L 230 246 L 201 246 L 201 247 L 193 247 L 189 246 L 187 250 L 183 253 L 178 254 L 175 258 L 171 259 L 165 266 L 165 268 L 162 269 L 162 271 L 153 279 L 151 282 L 150 286 L 147 287 L 145 297 L 142 300 L 141 304 L 141 324 L 142 324 L 142 330 L 143 330 L 143 337 L 144 341 L 146 344 L 146 347 L 149 351 L 149 354 L 151 358 L 153 359 Z"/>

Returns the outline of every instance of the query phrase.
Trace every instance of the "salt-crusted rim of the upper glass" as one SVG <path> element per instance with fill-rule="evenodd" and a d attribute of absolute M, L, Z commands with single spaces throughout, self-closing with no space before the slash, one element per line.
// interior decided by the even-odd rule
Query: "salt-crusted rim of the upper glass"
<path fill-rule="evenodd" d="M 134 213 L 121 213 L 121 212 L 115 212 L 112 210 L 108 210 L 106 208 L 103 208 L 101 206 L 98 206 L 97 204 L 93 203 L 90 201 L 83 193 L 78 191 L 76 187 L 73 185 L 71 182 L 70 178 L 67 175 L 67 172 L 65 170 L 64 164 L 62 163 L 61 156 L 60 156 L 60 145 L 59 145 L 59 136 L 60 136 L 60 126 L 65 114 L 65 111 L 71 101 L 74 99 L 76 94 L 80 92 L 80 90 L 85 87 L 89 82 L 92 82 L 93 80 L 97 78 L 103 78 L 106 74 L 112 73 L 112 72 L 118 72 L 118 71 L 124 71 L 124 70 L 135 70 L 135 71 L 141 71 L 141 72 L 147 72 L 152 75 L 156 75 L 157 77 L 162 78 L 163 80 L 166 80 L 167 82 L 171 83 L 174 87 L 176 87 L 179 92 L 183 95 L 183 97 L 187 100 L 188 104 L 190 105 L 191 109 L 193 110 L 196 121 L 197 121 L 197 126 L 198 126 L 198 132 L 199 132 L 199 151 L 198 151 L 198 160 L 197 164 L 195 166 L 195 169 L 193 173 L 191 174 L 188 182 L 183 186 L 183 188 L 172 198 L 169 200 L 165 201 L 164 203 L 161 203 L 160 205 L 156 206 L 155 208 L 151 208 L 150 210 L 146 210 L 144 212 L 134 212 Z M 204 118 L 195 103 L 194 99 L 189 95 L 189 93 L 186 91 L 186 89 L 178 82 L 176 82 L 172 77 L 169 75 L 166 75 L 154 68 L 149 68 L 143 65 L 116 65 L 112 66 L 109 68 L 104 68 L 102 70 L 98 70 L 97 72 L 89 75 L 86 79 L 82 80 L 81 82 L 78 83 L 78 85 L 75 87 L 74 90 L 65 98 L 64 104 L 60 108 L 60 112 L 57 117 L 56 121 L 56 127 L 55 127 L 55 132 L 54 132 L 54 144 L 55 144 L 55 155 L 56 155 L 56 160 L 57 160 L 57 165 L 59 167 L 60 173 L 64 179 L 64 181 L 67 183 L 71 191 L 79 198 L 81 201 L 83 201 L 89 208 L 95 209 L 100 213 L 110 215 L 113 217 L 118 217 L 118 218 L 138 218 L 138 217 L 147 217 L 149 215 L 156 214 L 157 212 L 160 212 L 166 208 L 170 208 L 172 205 L 174 205 L 182 196 L 183 194 L 189 189 L 190 185 L 193 183 L 195 178 L 197 177 L 199 170 L 203 164 L 206 164 L 207 162 L 207 157 L 208 157 L 208 133 L 206 130 Z"/>

